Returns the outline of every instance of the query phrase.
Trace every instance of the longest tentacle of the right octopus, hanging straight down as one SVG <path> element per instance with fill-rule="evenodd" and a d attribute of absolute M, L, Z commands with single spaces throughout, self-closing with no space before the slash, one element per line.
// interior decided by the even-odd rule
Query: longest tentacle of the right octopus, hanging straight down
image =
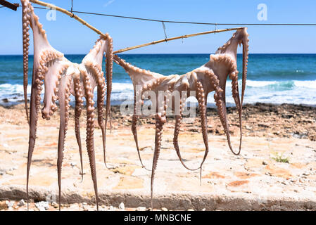
<path fill-rule="evenodd" d="M 157 113 L 155 150 L 153 152 L 153 167 L 151 169 L 151 210 L 153 210 L 153 180 L 155 179 L 155 171 L 157 168 L 158 158 L 160 154 L 161 140 L 163 136 L 163 124 L 165 124 L 165 122 L 166 122 L 165 113 Z"/>

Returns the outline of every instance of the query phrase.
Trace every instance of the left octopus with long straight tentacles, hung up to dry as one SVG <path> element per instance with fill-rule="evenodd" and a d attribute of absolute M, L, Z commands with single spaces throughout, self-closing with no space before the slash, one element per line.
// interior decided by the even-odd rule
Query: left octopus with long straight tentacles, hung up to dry
<path fill-rule="evenodd" d="M 44 108 L 42 117 L 49 120 L 57 110 L 56 101 L 60 108 L 60 129 L 58 137 L 58 188 L 59 210 L 61 210 L 61 169 L 63 163 L 63 150 L 65 135 L 68 127 L 68 110 L 70 108 L 70 94 L 75 96 L 75 134 L 80 151 L 81 174 L 82 146 L 80 139 L 80 115 L 83 107 L 83 97 L 87 106 L 87 152 L 91 169 L 92 181 L 96 195 L 96 207 L 99 210 L 98 187 L 96 181 L 96 164 L 94 153 L 94 89 L 97 87 L 98 124 L 102 131 L 103 153 L 106 153 L 106 124 L 110 113 L 110 92 L 112 85 L 113 44 L 108 34 L 96 41 L 94 48 L 84 57 L 82 63 L 71 63 L 49 44 L 46 33 L 34 14 L 34 9 L 28 0 L 21 0 L 23 6 L 23 86 L 25 97 L 25 110 L 30 125 L 29 148 L 27 155 L 27 207 L 28 186 L 32 153 L 37 133 L 37 120 L 41 101 L 42 85 L 44 84 Z M 27 72 L 29 49 L 29 26 L 34 37 L 34 65 L 32 72 L 32 88 L 30 98 L 30 117 L 27 110 Z M 106 54 L 106 85 L 102 72 L 103 54 Z M 106 94 L 106 120 L 103 122 L 103 105 Z M 105 162 L 105 161 L 104 161 Z"/>

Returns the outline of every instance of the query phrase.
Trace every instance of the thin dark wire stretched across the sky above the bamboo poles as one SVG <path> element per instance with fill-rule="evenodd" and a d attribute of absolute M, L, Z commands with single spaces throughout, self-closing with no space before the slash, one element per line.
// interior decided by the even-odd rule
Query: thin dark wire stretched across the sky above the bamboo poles
<path fill-rule="evenodd" d="M 0 7 L 0 8 L 4 8 L 4 7 Z M 44 7 L 37 7 L 37 6 L 33 6 L 33 8 L 47 9 Z M 152 22 L 159 22 L 159 23 L 182 23 L 182 24 L 194 24 L 194 25 L 316 26 L 316 23 L 201 23 L 201 22 L 175 21 L 175 20 L 155 20 L 155 19 L 150 19 L 150 18 L 137 18 L 137 17 L 130 17 L 130 16 L 125 16 L 125 15 L 110 15 L 110 14 L 91 13 L 91 12 L 83 12 L 83 11 L 71 11 L 71 13 L 72 14 L 81 13 L 81 14 L 87 14 L 87 15 L 102 15 L 102 16 L 115 17 L 115 18 L 125 18 L 125 19 L 131 19 L 131 20 L 145 20 L 145 21 L 152 21 Z"/>

